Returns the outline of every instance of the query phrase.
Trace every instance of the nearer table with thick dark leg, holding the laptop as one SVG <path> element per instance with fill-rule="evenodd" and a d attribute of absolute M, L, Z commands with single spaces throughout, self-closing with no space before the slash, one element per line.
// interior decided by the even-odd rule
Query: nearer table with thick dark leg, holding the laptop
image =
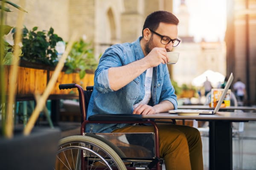
<path fill-rule="evenodd" d="M 209 170 L 232 170 L 232 122 L 256 121 L 256 113 L 217 112 L 214 115 L 198 116 L 157 113 L 143 115 L 143 118 L 209 121 Z"/>

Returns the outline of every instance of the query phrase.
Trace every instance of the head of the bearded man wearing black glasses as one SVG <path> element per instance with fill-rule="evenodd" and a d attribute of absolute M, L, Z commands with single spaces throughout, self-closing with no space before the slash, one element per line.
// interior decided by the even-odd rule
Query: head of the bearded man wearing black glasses
<path fill-rule="evenodd" d="M 155 11 L 148 15 L 143 26 L 143 38 L 146 40 L 145 52 L 148 54 L 154 47 L 171 51 L 180 40 L 177 39 L 179 20 L 168 11 Z"/>

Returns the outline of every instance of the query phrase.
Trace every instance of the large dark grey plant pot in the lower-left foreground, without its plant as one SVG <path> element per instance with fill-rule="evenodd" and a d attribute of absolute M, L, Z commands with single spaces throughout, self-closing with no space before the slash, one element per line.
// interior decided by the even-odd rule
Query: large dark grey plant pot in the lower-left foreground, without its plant
<path fill-rule="evenodd" d="M 0 169 L 51 170 L 55 165 L 59 129 L 37 128 L 29 136 L 15 130 L 12 139 L 0 138 Z"/>

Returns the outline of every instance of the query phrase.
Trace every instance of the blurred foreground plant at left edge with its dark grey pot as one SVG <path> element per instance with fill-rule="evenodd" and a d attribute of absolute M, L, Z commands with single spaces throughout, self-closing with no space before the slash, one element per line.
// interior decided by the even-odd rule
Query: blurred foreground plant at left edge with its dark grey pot
<path fill-rule="evenodd" d="M 3 40 L 3 35 L 8 33 L 12 27 L 4 26 L 4 12 L 11 11 L 6 3 L 18 8 L 22 11 L 20 6 L 10 2 L 0 0 L 0 164 L 1 169 L 52 169 L 55 161 L 55 151 L 57 150 L 58 139 L 60 138 L 60 131 L 58 129 L 49 128 L 34 128 L 32 133 L 28 136 L 22 134 L 22 128 L 13 128 L 13 111 L 8 111 L 6 106 L 12 105 L 9 103 L 9 98 L 12 95 L 10 91 L 6 93 L 6 85 L 4 79 L 7 79 L 4 74 L 4 64 L 10 64 L 15 61 L 20 55 L 20 50 L 17 46 L 12 46 Z M 16 41 L 15 41 L 16 42 Z M 19 41 L 17 41 L 19 42 Z M 13 50 L 14 49 L 14 50 Z M 16 57 L 16 58 L 15 58 Z M 12 68 L 15 68 L 13 66 Z M 15 81 L 15 79 L 14 79 Z M 12 81 L 11 81 L 12 82 Z M 15 84 L 15 83 L 14 83 Z M 15 88 L 15 85 L 12 85 Z M 8 96 L 8 102 L 6 102 Z M 12 108 L 13 109 L 13 108 Z M 8 119 L 7 119 L 8 118 Z M 8 125 L 8 127 L 6 127 Z M 14 129 L 14 130 L 12 130 Z M 10 130 L 7 133 L 6 130 Z"/>

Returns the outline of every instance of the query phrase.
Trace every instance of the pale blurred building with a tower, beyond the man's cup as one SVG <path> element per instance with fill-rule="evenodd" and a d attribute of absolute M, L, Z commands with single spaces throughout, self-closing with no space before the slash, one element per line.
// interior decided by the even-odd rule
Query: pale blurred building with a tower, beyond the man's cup
<path fill-rule="evenodd" d="M 174 51 L 180 52 L 180 58 L 177 64 L 172 65 L 172 71 L 170 71 L 172 78 L 178 85 L 202 86 L 203 84 L 192 83 L 192 81 L 195 77 L 203 74 L 204 71 L 211 70 L 226 75 L 225 42 L 220 40 L 206 42 L 204 38 L 195 42 L 194 36 L 189 33 L 189 23 L 191 22 L 185 0 L 180 1 L 176 16 L 180 20 L 178 37 L 181 44 L 174 48 Z M 212 85 L 217 87 L 217 83 Z"/>

